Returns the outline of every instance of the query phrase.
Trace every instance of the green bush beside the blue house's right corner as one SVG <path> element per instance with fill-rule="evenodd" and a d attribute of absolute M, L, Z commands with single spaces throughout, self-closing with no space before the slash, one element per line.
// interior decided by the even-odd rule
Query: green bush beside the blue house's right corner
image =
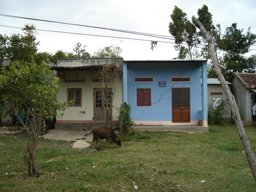
<path fill-rule="evenodd" d="M 223 114 L 225 113 L 224 107 L 225 107 L 225 103 L 223 100 L 215 108 L 213 108 L 212 106 L 209 106 L 208 123 L 210 125 L 215 125 L 215 124 L 222 125 L 224 122 L 227 121 L 227 119 L 223 117 Z"/>

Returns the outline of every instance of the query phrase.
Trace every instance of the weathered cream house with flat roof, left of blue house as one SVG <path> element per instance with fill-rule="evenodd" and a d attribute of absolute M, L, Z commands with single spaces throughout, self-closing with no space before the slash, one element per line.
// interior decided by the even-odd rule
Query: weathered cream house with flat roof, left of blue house
<path fill-rule="evenodd" d="M 102 65 L 116 63 L 121 67 L 123 58 L 96 59 L 58 59 L 57 71 L 60 91 L 60 103 L 72 100 L 62 117 L 57 117 L 56 128 L 83 129 L 92 128 L 94 123 L 105 123 L 108 113 L 108 123 L 112 126 L 118 120 L 117 107 L 123 103 L 122 77 L 114 85 L 109 85 L 109 99 L 113 102 L 107 112 L 102 96 L 102 82 L 99 69 Z"/>

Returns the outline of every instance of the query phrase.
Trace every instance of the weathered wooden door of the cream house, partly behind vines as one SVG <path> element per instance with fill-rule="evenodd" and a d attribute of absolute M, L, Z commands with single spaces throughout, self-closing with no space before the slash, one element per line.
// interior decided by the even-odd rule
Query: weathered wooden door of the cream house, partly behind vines
<path fill-rule="evenodd" d="M 94 88 L 94 122 L 105 123 L 112 122 L 112 88 L 108 88 L 108 95 L 103 95 L 103 89 Z"/>

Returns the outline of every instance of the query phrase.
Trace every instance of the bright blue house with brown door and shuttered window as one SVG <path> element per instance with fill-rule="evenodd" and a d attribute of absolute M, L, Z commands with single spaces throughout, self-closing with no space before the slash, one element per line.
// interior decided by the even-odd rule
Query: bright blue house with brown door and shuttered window
<path fill-rule="evenodd" d="M 123 61 L 123 101 L 135 127 L 208 133 L 206 68 L 205 60 Z"/>

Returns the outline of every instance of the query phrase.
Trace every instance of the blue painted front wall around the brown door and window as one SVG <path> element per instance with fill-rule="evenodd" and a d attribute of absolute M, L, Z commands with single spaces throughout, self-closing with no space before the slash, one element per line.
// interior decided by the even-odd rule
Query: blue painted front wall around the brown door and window
<path fill-rule="evenodd" d="M 172 121 L 172 88 L 190 88 L 191 121 L 202 119 L 201 67 L 202 61 L 124 61 L 124 102 L 131 105 L 132 120 Z M 136 76 L 154 76 L 155 83 L 133 83 Z M 170 76 L 191 76 L 192 82 L 170 83 Z M 166 82 L 166 87 L 159 87 L 159 82 Z M 137 88 L 151 88 L 151 106 L 137 106 Z"/>

